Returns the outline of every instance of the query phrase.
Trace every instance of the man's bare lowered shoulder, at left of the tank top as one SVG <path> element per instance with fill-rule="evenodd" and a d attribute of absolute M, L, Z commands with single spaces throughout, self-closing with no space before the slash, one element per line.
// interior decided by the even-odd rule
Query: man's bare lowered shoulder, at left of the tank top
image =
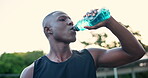
<path fill-rule="evenodd" d="M 34 63 L 29 65 L 22 71 L 20 78 L 33 78 L 33 72 L 34 72 Z"/>

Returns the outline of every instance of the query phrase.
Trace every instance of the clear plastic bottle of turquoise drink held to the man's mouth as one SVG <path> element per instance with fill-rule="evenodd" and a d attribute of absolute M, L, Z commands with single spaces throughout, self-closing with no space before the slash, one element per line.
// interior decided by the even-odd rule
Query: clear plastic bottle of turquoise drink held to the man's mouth
<path fill-rule="evenodd" d="M 86 30 L 84 26 L 94 26 L 99 22 L 102 22 L 106 19 L 110 18 L 110 12 L 108 9 L 102 8 L 97 11 L 95 16 L 85 16 L 82 20 L 79 20 L 76 25 L 73 27 L 75 31 L 83 31 Z"/>

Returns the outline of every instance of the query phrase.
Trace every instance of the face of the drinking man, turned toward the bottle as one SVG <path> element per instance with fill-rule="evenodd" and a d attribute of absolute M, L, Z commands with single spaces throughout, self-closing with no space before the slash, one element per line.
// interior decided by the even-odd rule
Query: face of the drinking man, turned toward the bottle
<path fill-rule="evenodd" d="M 63 12 L 56 12 L 52 15 L 50 25 L 53 30 L 53 37 L 60 42 L 70 43 L 76 41 L 76 32 L 71 30 L 73 22 Z"/>

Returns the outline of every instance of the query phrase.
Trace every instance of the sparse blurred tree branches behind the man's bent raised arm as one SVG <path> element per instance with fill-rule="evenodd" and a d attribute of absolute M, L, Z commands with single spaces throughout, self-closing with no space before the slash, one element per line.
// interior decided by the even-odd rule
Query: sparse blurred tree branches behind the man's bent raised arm
<path fill-rule="evenodd" d="M 120 24 L 122 24 L 122 23 L 120 23 Z M 138 41 L 143 45 L 145 50 L 148 51 L 148 46 L 141 42 L 141 34 L 139 33 L 139 31 L 134 31 L 129 25 L 123 25 L 123 26 L 126 27 L 138 39 Z M 92 44 L 96 44 L 96 45 L 99 45 L 100 47 L 104 47 L 104 48 L 108 48 L 108 49 L 114 48 L 114 47 L 121 47 L 119 41 L 112 41 L 111 43 L 107 43 L 106 42 L 108 39 L 107 33 L 101 33 L 101 34 L 91 33 L 91 34 L 92 34 L 92 37 L 97 38 L 97 40 L 94 43 L 82 41 L 81 43 L 84 44 L 85 47 L 92 45 Z"/>

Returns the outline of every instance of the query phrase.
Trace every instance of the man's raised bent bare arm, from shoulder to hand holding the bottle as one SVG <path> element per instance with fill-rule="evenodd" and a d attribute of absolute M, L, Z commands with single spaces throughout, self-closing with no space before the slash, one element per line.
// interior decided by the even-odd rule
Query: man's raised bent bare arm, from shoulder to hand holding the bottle
<path fill-rule="evenodd" d="M 97 67 L 116 67 L 124 65 L 140 59 L 145 54 L 145 50 L 136 38 L 113 17 L 96 26 L 86 26 L 85 28 L 96 29 L 103 25 L 119 39 L 122 47 L 108 50 L 97 48 L 88 49 Z"/>

